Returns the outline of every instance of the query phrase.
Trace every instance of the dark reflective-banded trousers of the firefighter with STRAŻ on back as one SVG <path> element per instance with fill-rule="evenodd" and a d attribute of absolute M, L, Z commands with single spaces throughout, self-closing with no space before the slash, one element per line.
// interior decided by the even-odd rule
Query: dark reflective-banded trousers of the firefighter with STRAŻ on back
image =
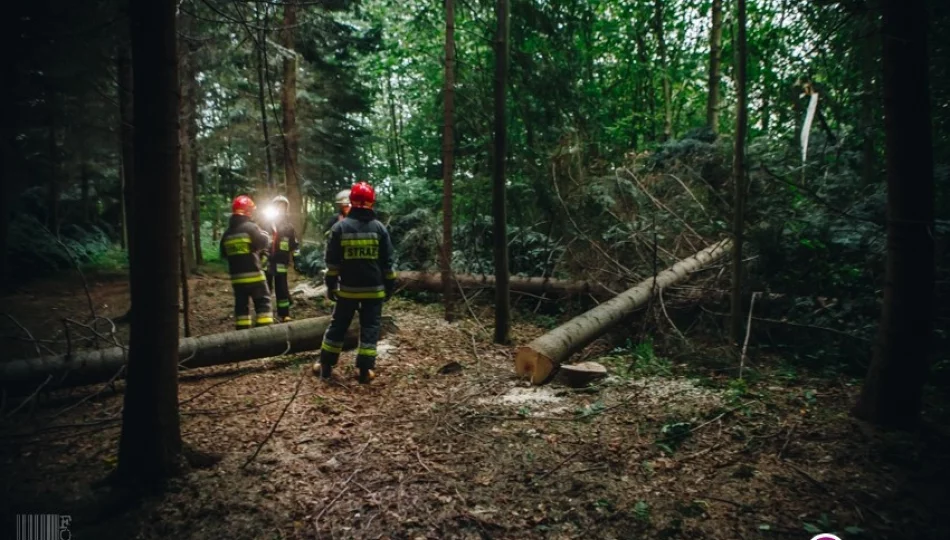
<path fill-rule="evenodd" d="M 382 327 L 383 300 L 353 300 L 338 298 L 333 308 L 330 326 L 323 335 L 320 363 L 335 366 L 343 352 L 343 337 L 356 312 L 360 312 L 360 346 L 356 351 L 356 367 L 376 367 L 376 342 Z"/>

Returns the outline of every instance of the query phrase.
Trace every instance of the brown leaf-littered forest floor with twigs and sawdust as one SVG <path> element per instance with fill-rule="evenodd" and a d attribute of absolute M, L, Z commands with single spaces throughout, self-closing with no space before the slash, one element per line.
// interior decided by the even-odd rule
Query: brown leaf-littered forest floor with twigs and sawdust
<path fill-rule="evenodd" d="M 4 311 L 52 347 L 64 317 L 91 318 L 82 291 L 36 282 Z M 193 279 L 191 291 L 195 334 L 232 328 L 222 275 Z M 120 276 L 90 278 L 90 294 L 97 315 L 128 309 Z M 68 514 L 76 539 L 950 538 L 948 438 L 853 420 L 853 381 L 753 352 L 748 385 L 676 361 L 632 371 L 611 361 L 593 388 L 529 387 L 513 375 L 514 349 L 481 329 L 487 307 L 451 324 L 440 306 L 396 299 L 386 312 L 399 331 L 381 342 L 368 386 L 356 384 L 352 352 L 333 384 L 310 373 L 315 354 L 183 373 L 183 439 L 221 459 L 118 515 L 96 517 L 87 501 L 116 464 L 122 383 L 45 394 L 12 418 L 8 405 L 4 516 Z M 7 323 L 7 350 L 35 354 Z M 544 331 L 520 322 L 513 337 Z M 440 372 L 452 362 L 461 370 Z"/>

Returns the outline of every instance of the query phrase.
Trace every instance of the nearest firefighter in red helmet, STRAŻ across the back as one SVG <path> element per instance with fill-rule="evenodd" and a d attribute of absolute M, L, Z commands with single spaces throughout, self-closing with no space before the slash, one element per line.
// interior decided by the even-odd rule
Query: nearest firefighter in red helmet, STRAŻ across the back
<path fill-rule="evenodd" d="M 356 353 L 359 382 L 375 376 L 376 342 L 379 340 L 383 302 L 396 285 L 393 246 L 389 231 L 376 220 L 376 193 L 366 182 L 350 190 L 351 209 L 330 229 L 327 242 L 327 298 L 336 302 L 330 326 L 323 336 L 320 361 L 314 371 L 329 379 L 343 350 L 343 336 L 355 312 L 360 312 L 360 345 Z M 339 286 L 339 289 L 337 288 Z"/>

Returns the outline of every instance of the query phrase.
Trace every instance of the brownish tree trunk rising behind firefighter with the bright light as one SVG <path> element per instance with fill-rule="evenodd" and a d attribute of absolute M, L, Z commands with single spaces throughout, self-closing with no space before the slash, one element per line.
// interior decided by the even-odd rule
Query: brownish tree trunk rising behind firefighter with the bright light
<path fill-rule="evenodd" d="M 290 219 L 294 229 L 302 233 L 306 214 L 300 189 L 297 153 L 300 135 L 297 132 L 297 55 L 294 51 L 294 28 L 297 26 L 297 2 L 284 4 L 284 27 L 281 31 L 284 49 L 284 84 L 281 88 L 281 109 L 284 112 L 284 181 L 290 201 Z"/>

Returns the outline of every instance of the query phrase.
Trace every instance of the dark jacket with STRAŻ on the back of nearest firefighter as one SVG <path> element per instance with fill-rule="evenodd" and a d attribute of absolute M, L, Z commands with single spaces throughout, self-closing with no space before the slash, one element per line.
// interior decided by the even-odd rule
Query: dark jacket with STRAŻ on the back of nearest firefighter
<path fill-rule="evenodd" d="M 392 295 L 393 245 L 389 231 L 376 220 L 376 213 L 353 208 L 346 219 L 330 229 L 326 252 L 327 287 L 339 280 L 340 298 L 383 299 Z"/>

